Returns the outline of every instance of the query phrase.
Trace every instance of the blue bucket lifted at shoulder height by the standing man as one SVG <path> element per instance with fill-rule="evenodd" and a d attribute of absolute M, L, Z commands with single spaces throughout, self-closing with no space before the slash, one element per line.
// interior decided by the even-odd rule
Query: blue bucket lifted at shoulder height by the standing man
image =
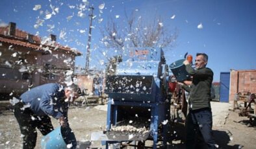
<path fill-rule="evenodd" d="M 178 82 L 190 80 L 190 75 L 186 72 L 186 66 L 183 64 L 185 59 L 177 60 L 170 64 L 170 69 Z"/>

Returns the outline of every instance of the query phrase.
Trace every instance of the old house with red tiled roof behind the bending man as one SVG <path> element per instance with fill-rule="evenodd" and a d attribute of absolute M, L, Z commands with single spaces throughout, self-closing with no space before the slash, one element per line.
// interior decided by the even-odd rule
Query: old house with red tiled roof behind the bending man
<path fill-rule="evenodd" d="M 0 94 L 20 94 L 49 82 L 64 84 L 75 56 L 81 52 L 58 44 L 53 34 L 42 40 L 16 29 L 16 23 L 0 27 Z"/>

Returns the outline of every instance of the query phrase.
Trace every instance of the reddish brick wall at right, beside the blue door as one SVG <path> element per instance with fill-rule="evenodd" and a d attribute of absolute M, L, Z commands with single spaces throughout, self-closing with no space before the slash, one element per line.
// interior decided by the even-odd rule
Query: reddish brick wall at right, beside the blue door
<path fill-rule="evenodd" d="M 256 93 L 256 70 L 230 71 L 229 102 L 233 102 L 238 92 Z"/>

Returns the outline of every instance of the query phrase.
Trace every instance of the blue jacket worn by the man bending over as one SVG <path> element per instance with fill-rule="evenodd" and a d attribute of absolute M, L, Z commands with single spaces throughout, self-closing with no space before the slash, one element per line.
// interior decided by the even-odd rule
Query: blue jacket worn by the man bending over
<path fill-rule="evenodd" d="M 23 93 L 21 102 L 38 116 L 50 115 L 55 119 L 68 117 L 68 102 L 64 102 L 64 87 L 59 84 L 44 84 Z"/>

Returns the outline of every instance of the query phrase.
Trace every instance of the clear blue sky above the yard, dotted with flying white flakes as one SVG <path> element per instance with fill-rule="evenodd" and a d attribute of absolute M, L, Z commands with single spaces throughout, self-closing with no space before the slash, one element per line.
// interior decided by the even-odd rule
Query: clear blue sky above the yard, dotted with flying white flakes
<path fill-rule="evenodd" d="M 84 17 L 81 17 L 81 13 L 78 16 L 79 8 L 94 5 L 96 19 L 92 30 L 91 68 L 103 69 L 99 62 L 106 61 L 105 57 L 111 53 L 99 42 L 102 38 L 99 28 L 104 27 L 109 17 L 123 21 L 124 9 L 127 12 L 137 9 L 139 16 L 154 18 L 157 14 L 162 17 L 164 27 L 179 30 L 175 47 L 164 49 L 168 65 L 183 58 L 186 52 L 194 57 L 197 52 L 205 52 L 209 55 L 207 66 L 214 71 L 215 82 L 220 80 L 220 72 L 256 69 L 256 1 L 253 0 L 1 0 L 0 3 L 0 25 L 12 21 L 19 29 L 39 33 L 41 37 L 56 34 L 62 45 L 83 52 L 83 56 L 76 59 L 77 66 L 85 65 L 89 26 L 89 11 L 82 11 Z M 99 5 L 102 4 L 105 6 L 101 13 Z M 41 8 L 33 10 L 35 5 Z M 45 16 L 47 12 L 52 14 L 49 19 Z M 175 17 L 171 19 L 173 15 Z M 44 23 L 35 28 L 38 19 Z M 199 24 L 202 29 L 198 29 Z"/>

